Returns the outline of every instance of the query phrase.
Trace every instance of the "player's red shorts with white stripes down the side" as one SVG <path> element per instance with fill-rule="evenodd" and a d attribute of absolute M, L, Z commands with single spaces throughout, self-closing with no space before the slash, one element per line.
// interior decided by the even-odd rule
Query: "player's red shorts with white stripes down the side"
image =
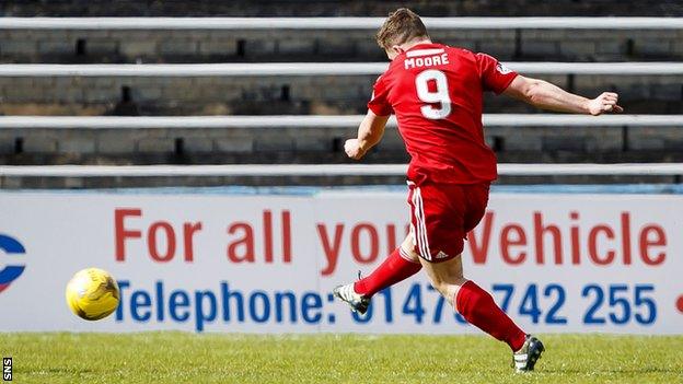
<path fill-rule="evenodd" d="M 408 182 L 410 234 L 415 252 L 427 261 L 449 260 L 482 220 L 490 183 L 416 185 Z"/>

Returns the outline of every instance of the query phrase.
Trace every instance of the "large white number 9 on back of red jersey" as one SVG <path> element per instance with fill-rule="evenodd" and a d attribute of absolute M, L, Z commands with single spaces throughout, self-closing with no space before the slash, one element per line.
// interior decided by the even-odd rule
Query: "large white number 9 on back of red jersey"
<path fill-rule="evenodd" d="M 429 81 L 437 84 L 436 91 L 429 91 Z M 417 97 L 429 105 L 422 105 L 422 116 L 431 120 L 445 118 L 451 113 L 451 96 L 449 96 L 448 80 L 445 74 L 436 69 L 428 69 L 415 77 Z M 433 104 L 440 104 L 437 108 Z"/>

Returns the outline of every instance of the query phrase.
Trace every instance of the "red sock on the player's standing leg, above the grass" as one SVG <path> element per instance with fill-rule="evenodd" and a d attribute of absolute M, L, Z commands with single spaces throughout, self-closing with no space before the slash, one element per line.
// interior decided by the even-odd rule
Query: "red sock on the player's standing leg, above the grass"
<path fill-rule="evenodd" d="M 470 324 L 477 326 L 485 333 L 505 341 L 512 351 L 518 351 L 524 345 L 526 334 L 502 310 L 496 305 L 494 298 L 475 284 L 465 282 L 455 295 L 456 309 Z"/>

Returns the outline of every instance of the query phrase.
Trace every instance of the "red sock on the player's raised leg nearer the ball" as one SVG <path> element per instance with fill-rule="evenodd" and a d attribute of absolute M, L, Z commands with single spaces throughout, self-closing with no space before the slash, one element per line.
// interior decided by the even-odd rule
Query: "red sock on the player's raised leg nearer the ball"
<path fill-rule="evenodd" d="M 401 252 L 401 247 L 394 249 L 370 276 L 356 281 L 354 284 L 356 293 L 372 296 L 384 288 L 409 278 L 422 268 L 419 261 L 409 260 L 407 256 L 402 256 Z"/>

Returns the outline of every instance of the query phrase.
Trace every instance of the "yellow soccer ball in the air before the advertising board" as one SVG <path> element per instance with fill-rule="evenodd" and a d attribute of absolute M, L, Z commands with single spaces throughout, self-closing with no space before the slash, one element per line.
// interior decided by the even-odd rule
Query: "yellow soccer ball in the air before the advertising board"
<path fill-rule="evenodd" d="M 69 309 L 86 321 L 97 321 L 111 315 L 116 311 L 119 298 L 116 280 L 100 268 L 80 270 L 67 284 Z"/>

